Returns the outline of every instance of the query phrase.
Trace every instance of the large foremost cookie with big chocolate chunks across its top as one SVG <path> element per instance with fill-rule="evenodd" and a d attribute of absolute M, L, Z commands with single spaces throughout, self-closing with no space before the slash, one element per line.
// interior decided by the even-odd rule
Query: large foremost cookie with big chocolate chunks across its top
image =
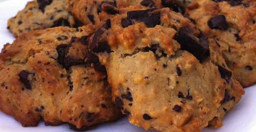
<path fill-rule="evenodd" d="M 244 90 L 214 39 L 169 8 L 129 6 L 99 17 L 88 54 L 106 68 L 112 101 L 132 124 L 162 132 L 223 125 Z"/>

